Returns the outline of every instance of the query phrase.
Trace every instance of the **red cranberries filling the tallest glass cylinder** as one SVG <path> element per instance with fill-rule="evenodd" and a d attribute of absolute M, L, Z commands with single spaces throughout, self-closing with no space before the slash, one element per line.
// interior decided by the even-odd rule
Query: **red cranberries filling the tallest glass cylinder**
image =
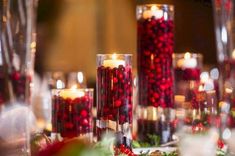
<path fill-rule="evenodd" d="M 173 107 L 173 21 L 138 20 L 139 104 Z"/>

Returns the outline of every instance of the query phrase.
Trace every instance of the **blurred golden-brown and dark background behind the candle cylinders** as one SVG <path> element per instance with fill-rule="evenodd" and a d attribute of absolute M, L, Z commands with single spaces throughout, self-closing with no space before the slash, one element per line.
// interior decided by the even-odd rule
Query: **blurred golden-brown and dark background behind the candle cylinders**
<path fill-rule="evenodd" d="M 36 70 L 82 70 L 88 78 L 94 80 L 97 53 L 129 52 L 136 58 L 135 8 L 136 5 L 145 3 L 175 6 L 176 53 L 202 53 L 206 65 L 216 64 L 213 10 L 210 0 L 39 0 Z M 74 9 L 73 7 L 77 7 L 78 13 L 69 14 L 68 10 Z M 62 17 L 68 19 L 67 24 L 63 22 Z M 73 21 L 69 21 L 70 18 L 78 20 L 78 27 L 74 26 Z M 58 24 L 61 19 L 62 22 Z M 64 29 L 62 32 L 71 27 L 70 29 L 76 33 L 68 31 L 68 35 L 71 33 L 71 40 L 64 39 L 58 35 L 58 27 Z M 76 35 L 77 41 L 74 41 L 72 35 Z M 62 41 L 58 44 L 54 40 L 59 38 Z M 61 43 L 66 45 L 66 42 L 70 43 L 65 48 L 68 50 L 61 50 L 63 48 L 59 46 Z M 51 50 L 53 48 L 50 46 L 54 44 L 55 47 L 59 47 L 57 50 Z M 87 58 L 88 54 L 90 58 Z"/>

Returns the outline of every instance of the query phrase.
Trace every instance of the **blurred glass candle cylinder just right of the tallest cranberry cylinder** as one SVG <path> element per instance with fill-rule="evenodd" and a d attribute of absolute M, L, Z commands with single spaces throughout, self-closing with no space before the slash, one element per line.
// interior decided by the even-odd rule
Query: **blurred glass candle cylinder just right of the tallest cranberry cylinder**
<path fill-rule="evenodd" d="M 199 90 L 202 59 L 201 54 L 189 52 L 173 55 L 174 102 L 178 128 L 184 124 L 192 125 L 203 111 L 201 100 L 204 91 Z"/>

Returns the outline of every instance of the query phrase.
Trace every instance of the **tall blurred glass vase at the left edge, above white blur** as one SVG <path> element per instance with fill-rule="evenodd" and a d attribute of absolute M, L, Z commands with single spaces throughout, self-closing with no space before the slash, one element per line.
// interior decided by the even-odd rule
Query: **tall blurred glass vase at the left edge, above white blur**
<path fill-rule="evenodd" d="M 1 4 L 0 103 L 29 103 L 37 0 L 4 0 Z"/>

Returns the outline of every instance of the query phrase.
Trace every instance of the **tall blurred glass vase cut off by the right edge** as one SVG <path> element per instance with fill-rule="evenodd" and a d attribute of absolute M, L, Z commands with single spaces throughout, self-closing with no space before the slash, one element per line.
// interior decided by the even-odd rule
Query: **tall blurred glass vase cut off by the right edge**
<path fill-rule="evenodd" d="M 235 128 L 235 2 L 214 0 L 213 7 L 220 69 L 220 110 L 221 114 L 228 115 L 223 127 Z"/>

